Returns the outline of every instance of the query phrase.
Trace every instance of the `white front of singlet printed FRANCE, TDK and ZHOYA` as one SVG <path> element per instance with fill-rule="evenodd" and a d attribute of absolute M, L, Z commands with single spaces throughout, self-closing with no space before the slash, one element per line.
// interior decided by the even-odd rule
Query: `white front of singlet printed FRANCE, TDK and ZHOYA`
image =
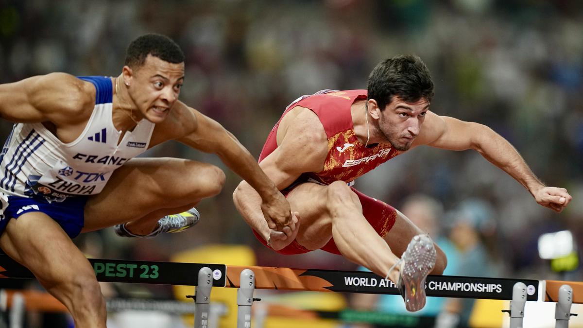
<path fill-rule="evenodd" d="M 96 115 L 78 138 L 68 144 L 42 128 L 35 131 L 36 128 L 40 125 L 33 125 L 30 134 L 40 134 L 45 142 L 30 160 L 36 169 L 27 176 L 27 185 L 47 199 L 62 200 L 71 195 L 99 193 L 115 169 L 147 149 L 153 124 L 138 124 L 122 136 L 107 114 Z"/>

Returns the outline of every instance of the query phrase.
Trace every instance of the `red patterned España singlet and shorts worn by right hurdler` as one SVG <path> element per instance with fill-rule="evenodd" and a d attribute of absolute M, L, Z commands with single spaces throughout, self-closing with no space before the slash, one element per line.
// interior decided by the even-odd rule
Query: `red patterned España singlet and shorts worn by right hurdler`
<path fill-rule="evenodd" d="M 295 182 L 282 190 L 287 195 L 298 184 L 304 182 L 314 182 L 319 184 L 331 184 L 341 180 L 352 186 L 354 179 L 364 175 L 368 171 L 376 168 L 387 160 L 394 158 L 402 152 L 392 148 L 391 144 L 380 143 L 372 146 L 365 146 L 357 139 L 354 132 L 350 106 L 356 100 L 366 100 L 367 90 L 322 90 L 314 95 L 303 96 L 287 106 L 278 123 L 275 124 L 267 141 L 259 155 L 259 162 L 266 158 L 278 147 L 276 136 L 278 134 L 279 123 L 282 118 L 294 107 L 301 106 L 314 111 L 320 122 L 324 126 L 326 137 L 328 137 L 328 156 L 324 162 L 324 170 L 321 172 L 309 172 L 301 175 Z M 363 215 L 371 226 L 381 237 L 384 237 L 395 224 L 396 212 L 391 207 L 380 200 L 368 197 L 351 189 L 359 197 L 363 207 Z M 255 232 L 255 236 L 266 245 L 261 236 Z M 335 254 L 340 254 L 338 247 L 331 239 L 322 250 Z M 287 247 L 276 251 L 281 254 L 301 254 L 310 252 L 297 241 L 294 240 Z"/>

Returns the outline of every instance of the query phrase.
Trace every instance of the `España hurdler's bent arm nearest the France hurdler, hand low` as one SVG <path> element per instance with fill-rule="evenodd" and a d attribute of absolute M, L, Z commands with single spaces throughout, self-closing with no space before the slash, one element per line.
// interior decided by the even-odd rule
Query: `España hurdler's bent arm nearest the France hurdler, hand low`
<path fill-rule="evenodd" d="M 290 186 L 304 172 L 321 171 L 328 153 L 326 134 L 315 114 L 305 109 L 297 117 L 291 116 L 288 113 L 279 125 L 278 147 L 259 164 L 279 190 Z M 296 238 L 299 224 L 281 229 L 261 217 L 259 196 L 247 183 L 239 184 L 233 200 L 247 224 L 265 240 L 271 238 L 272 249 L 280 250 Z M 296 222 L 297 213 L 294 213 L 293 223 Z"/>

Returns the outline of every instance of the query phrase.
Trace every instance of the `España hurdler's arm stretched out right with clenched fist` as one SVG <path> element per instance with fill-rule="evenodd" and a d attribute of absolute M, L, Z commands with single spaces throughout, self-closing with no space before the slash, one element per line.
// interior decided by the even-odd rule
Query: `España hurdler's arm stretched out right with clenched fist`
<path fill-rule="evenodd" d="M 553 211 L 563 211 L 571 201 L 566 189 L 547 187 L 540 182 L 514 146 L 486 125 L 427 112 L 416 144 L 456 151 L 474 149 L 521 183 L 536 203 Z"/>

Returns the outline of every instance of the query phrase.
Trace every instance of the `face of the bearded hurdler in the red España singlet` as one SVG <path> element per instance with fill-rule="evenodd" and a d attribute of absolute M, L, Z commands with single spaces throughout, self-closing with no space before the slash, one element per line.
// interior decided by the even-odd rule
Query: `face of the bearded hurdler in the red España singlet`
<path fill-rule="evenodd" d="M 394 96 L 391 103 L 380 113 L 378 129 L 393 148 L 406 151 L 419 135 L 427 110 L 429 110 L 427 99 L 408 103 Z"/>

